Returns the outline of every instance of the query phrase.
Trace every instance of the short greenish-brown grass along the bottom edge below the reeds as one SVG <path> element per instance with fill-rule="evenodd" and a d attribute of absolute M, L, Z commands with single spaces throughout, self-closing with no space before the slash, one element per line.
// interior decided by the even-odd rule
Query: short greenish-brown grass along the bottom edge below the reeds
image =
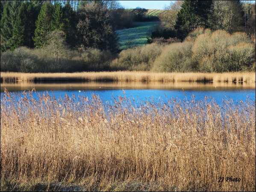
<path fill-rule="evenodd" d="M 43 180 L 32 180 L 26 183 L 15 180 L 1 180 L 1 191 L 158 191 L 161 185 L 156 183 L 141 183 L 137 180 L 126 180 L 122 182 L 106 183 L 106 181 L 95 182 L 94 177 L 84 179 L 82 182 L 47 182 Z M 175 190 L 163 188 L 163 191 Z"/>

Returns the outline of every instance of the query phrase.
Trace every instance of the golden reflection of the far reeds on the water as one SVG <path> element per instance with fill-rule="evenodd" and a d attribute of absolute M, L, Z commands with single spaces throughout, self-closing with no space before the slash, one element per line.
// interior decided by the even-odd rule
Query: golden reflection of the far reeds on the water
<path fill-rule="evenodd" d="M 101 90 L 101 89 L 178 89 L 178 90 L 233 90 L 255 89 L 253 82 L 79 82 L 79 83 L 33 83 L 14 81 L 1 83 L 0 90 Z"/>

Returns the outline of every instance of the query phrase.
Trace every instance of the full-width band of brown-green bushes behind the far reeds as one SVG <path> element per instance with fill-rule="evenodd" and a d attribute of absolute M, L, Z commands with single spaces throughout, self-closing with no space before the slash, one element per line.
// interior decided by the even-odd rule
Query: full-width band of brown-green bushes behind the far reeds
<path fill-rule="evenodd" d="M 61 33 L 59 36 L 45 48 L 19 47 L 13 52 L 1 52 L 1 71 L 255 72 L 255 37 L 244 32 L 229 34 L 224 30 L 212 32 L 198 28 L 183 42 L 175 43 L 176 38 L 159 38 L 157 43 L 125 49 L 118 55 L 85 47 L 71 50 L 62 44 Z"/>

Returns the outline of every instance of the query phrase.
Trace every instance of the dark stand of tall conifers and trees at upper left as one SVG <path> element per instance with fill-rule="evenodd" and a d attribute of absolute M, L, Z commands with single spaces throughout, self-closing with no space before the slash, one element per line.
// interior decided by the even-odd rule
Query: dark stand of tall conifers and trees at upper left
<path fill-rule="evenodd" d="M 110 10 L 117 1 L 1 1 L 1 51 L 41 48 L 53 31 L 70 47 L 117 49 Z M 56 33 L 58 34 L 58 33 Z"/>

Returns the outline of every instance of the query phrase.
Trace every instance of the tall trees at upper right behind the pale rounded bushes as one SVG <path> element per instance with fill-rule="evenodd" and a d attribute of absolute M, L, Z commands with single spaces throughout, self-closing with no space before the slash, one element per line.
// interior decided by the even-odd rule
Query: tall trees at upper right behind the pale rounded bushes
<path fill-rule="evenodd" d="M 152 38 L 184 39 L 197 27 L 255 35 L 255 1 L 191 0 L 176 1 L 159 15 L 162 26 Z"/>

